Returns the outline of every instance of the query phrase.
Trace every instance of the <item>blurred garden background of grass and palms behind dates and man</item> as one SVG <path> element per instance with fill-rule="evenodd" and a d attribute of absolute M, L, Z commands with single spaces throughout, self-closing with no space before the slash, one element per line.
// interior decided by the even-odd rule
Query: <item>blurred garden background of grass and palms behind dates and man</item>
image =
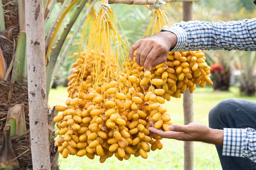
<path fill-rule="evenodd" d="M 97 8 L 98 5 L 96 3 L 95 7 Z M 162 5 L 161 8 L 172 16 L 173 23 L 182 20 L 181 2 L 167 3 Z M 56 3 L 53 9 L 55 12 L 47 20 L 46 33 L 49 31 L 60 9 L 61 4 Z M 111 9 L 118 18 L 130 46 L 143 37 L 152 19 L 152 14 L 148 11 L 148 8 L 145 8 L 145 6 L 113 4 Z M 72 12 L 68 15 L 71 16 Z M 63 28 L 70 20 L 68 15 L 64 19 L 64 24 L 62 24 Z M 255 15 L 256 6 L 252 0 L 201 0 L 200 2 L 193 3 L 193 20 L 220 22 L 250 19 L 255 17 Z M 76 23 L 65 43 L 72 37 L 75 28 Z M 73 53 L 78 51 L 80 38 L 81 33 L 77 35 L 58 71 L 58 76 L 49 94 L 50 107 L 63 104 L 67 97 L 67 77 L 70 75 L 72 63 L 76 60 L 73 57 Z M 212 68 L 211 79 L 214 84 L 211 87 L 198 87 L 193 94 L 194 117 L 195 122 L 208 125 L 210 109 L 222 99 L 235 97 L 256 101 L 256 52 L 204 52 L 206 53 L 207 63 Z M 182 101 L 182 98 L 172 98 L 171 101 L 165 103 L 168 112 L 172 115 L 172 122 L 175 124 L 183 124 Z M 182 170 L 184 164 L 183 142 L 163 139 L 163 149 L 148 153 L 148 159 L 132 157 L 128 161 L 120 162 L 115 157 L 112 157 L 107 159 L 104 164 L 100 164 L 98 159 L 90 160 L 87 157 L 69 156 L 67 159 L 60 157 L 59 161 L 61 170 Z M 195 142 L 194 161 L 195 170 L 221 170 L 218 154 L 213 145 Z"/>

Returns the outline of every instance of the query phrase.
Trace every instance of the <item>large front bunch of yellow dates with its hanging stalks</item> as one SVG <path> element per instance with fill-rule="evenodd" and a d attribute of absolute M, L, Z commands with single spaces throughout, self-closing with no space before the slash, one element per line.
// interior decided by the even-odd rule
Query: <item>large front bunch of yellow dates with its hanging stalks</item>
<path fill-rule="evenodd" d="M 152 96 L 140 93 L 141 88 L 130 77 L 130 63 L 124 62 L 129 46 L 121 39 L 117 23 L 113 11 L 102 5 L 87 50 L 73 63 L 70 97 L 65 106 L 55 107 L 62 112 L 54 121 L 58 127 L 56 133 L 60 135 L 55 144 L 63 158 L 99 156 L 101 163 L 113 155 L 120 161 L 131 155 L 146 159 L 151 148 L 163 147 L 162 138 L 148 131 L 151 120 L 156 120 L 158 129 L 172 124 L 162 105 L 165 100 L 155 96 L 163 91 L 152 86 Z M 118 62 L 123 63 L 118 65 Z"/>

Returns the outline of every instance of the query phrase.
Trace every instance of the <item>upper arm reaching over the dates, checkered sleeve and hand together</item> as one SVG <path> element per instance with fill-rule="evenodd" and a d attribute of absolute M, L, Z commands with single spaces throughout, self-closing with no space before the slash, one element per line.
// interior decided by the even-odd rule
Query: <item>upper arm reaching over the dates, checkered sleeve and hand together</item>
<path fill-rule="evenodd" d="M 172 36 L 170 36 L 170 33 Z M 156 34 L 152 36 L 153 39 L 146 37 L 132 45 L 129 59 L 133 58 L 134 51 L 138 49 L 136 62 L 148 70 L 150 66 L 155 66 L 154 63 L 163 63 L 169 51 L 194 51 L 199 49 L 256 51 L 256 18 L 219 23 L 180 22 L 163 29 L 159 34 L 162 34 L 162 36 Z M 149 41 L 150 43 L 148 43 Z M 164 47 L 167 45 L 167 48 L 158 53 L 155 50 L 156 48 L 152 48 L 156 45 Z M 148 56 L 148 54 L 150 55 Z M 166 55 L 163 57 L 163 54 Z"/>

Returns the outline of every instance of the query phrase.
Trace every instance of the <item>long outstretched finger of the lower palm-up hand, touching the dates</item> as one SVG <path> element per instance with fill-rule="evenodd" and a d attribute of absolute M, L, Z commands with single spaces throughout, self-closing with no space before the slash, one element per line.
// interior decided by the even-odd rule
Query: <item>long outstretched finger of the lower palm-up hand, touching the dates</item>
<path fill-rule="evenodd" d="M 161 136 L 162 138 L 177 139 L 177 140 L 186 139 L 184 134 L 180 132 L 172 132 L 172 131 L 165 132 L 163 130 L 158 130 L 154 127 L 148 127 L 148 130 L 158 136 Z"/>

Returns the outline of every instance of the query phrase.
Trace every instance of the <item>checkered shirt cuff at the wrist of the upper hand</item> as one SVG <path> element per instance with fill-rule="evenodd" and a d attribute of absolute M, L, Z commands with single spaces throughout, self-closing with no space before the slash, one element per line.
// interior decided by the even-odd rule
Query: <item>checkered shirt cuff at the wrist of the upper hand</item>
<path fill-rule="evenodd" d="M 172 26 L 162 29 L 161 31 L 170 31 L 177 36 L 177 44 L 173 49 L 170 49 L 170 51 L 182 51 L 184 49 L 186 45 L 187 34 L 183 28 L 180 26 Z"/>

